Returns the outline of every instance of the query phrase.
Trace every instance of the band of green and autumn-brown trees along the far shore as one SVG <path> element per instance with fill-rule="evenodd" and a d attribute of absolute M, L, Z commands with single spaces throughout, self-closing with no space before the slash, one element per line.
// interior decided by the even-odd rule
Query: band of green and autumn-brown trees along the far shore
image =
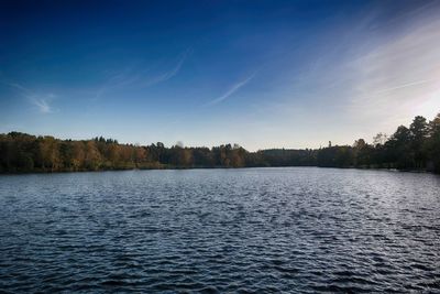
<path fill-rule="evenodd" d="M 0 172 L 76 172 L 132 168 L 250 166 L 326 166 L 420 170 L 440 173 L 440 113 L 431 121 L 416 117 L 391 137 L 378 133 L 372 143 L 306 150 L 273 149 L 248 152 L 240 145 L 166 148 L 119 144 L 102 137 L 58 140 L 21 132 L 0 134 Z"/>

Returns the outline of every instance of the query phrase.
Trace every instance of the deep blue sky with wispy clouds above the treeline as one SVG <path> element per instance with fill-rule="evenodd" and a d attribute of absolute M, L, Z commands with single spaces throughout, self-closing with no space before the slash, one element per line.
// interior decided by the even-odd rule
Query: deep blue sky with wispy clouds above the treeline
<path fill-rule="evenodd" d="M 0 133 L 250 151 L 440 112 L 440 1 L 0 1 Z"/>

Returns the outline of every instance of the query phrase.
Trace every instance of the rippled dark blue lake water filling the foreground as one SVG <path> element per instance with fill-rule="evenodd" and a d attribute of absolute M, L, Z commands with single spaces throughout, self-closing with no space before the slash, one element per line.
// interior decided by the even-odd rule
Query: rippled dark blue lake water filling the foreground
<path fill-rule="evenodd" d="M 3 175 L 0 290 L 439 293 L 440 177 L 316 167 Z"/>

